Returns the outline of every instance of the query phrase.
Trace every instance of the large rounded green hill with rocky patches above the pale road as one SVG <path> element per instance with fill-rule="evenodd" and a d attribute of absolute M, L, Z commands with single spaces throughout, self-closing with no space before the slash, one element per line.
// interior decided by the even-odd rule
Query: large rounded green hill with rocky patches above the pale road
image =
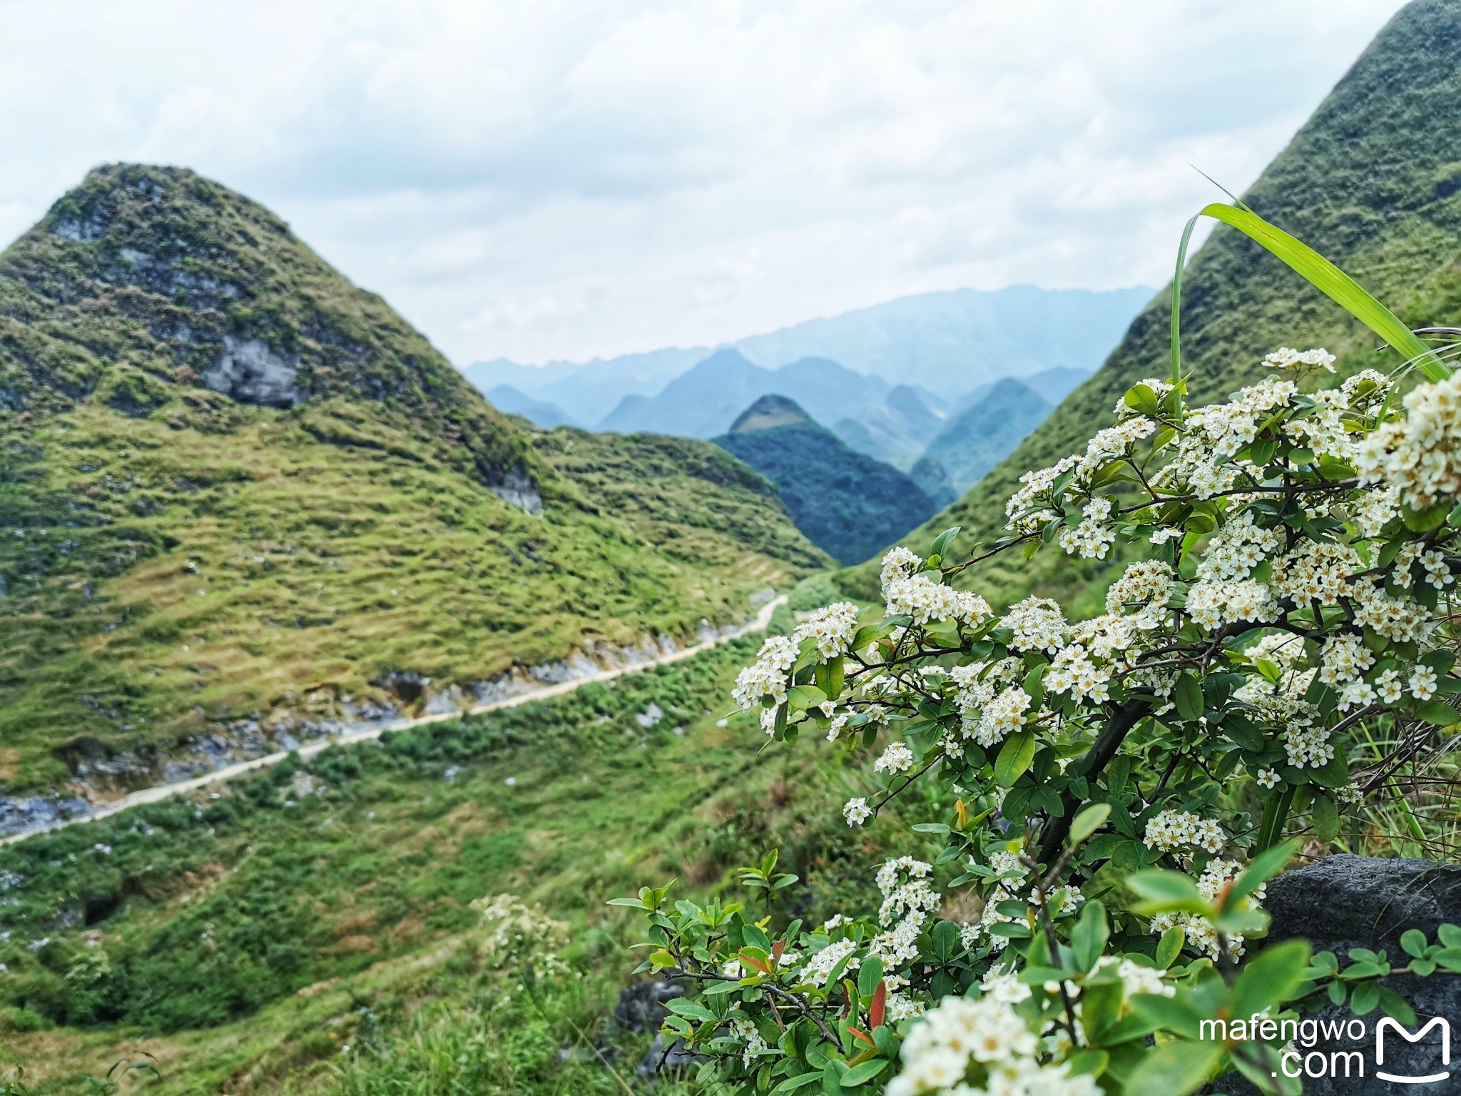
<path fill-rule="evenodd" d="M 824 563 L 714 446 L 503 416 L 190 171 L 99 168 L 0 254 L 0 791 L 690 636 Z"/>

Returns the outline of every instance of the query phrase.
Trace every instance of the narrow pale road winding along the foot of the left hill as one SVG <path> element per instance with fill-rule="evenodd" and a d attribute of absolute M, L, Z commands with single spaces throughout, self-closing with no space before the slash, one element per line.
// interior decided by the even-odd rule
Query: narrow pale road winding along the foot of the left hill
<path fill-rule="evenodd" d="M 624 677 L 625 674 L 638 674 L 640 671 L 650 669 L 652 666 L 665 666 L 671 662 L 684 662 L 685 659 L 694 658 L 706 650 L 710 650 L 719 643 L 725 643 L 729 639 L 739 639 L 748 636 L 752 631 L 766 631 L 771 623 L 771 614 L 776 612 L 777 606 L 786 604 L 786 595 L 773 598 L 766 605 L 761 606 L 760 612 L 739 628 L 725 636 L 717 636 L 713 640 L 706 640 L 697 643 L 693 647 L 685 647 L 682 650 L 672 652 L 669 655 L 660 655 L 652 662 L 641 662 L 637 666 L 619 666 L 618 669 L 600 669 L 598 674 L 590 674 L 589 677 L 576 678 L 573 681 L 561 681 L 557 685 L 543 685 L 542 688 L 535 688 L 527 693 L 520 693 L 516 697 L 508 697 L 506 700 L 494 700 L 487 704 L 478 704 L 476 707 L 469 707 L 462 712 L 444 712 L 434 716 L 419 716 L 416 719 L 397 719 L 392 723 L 383 723 L 381 726 L 373 726 L 355 734 L 335 735 L 333 738 L 323 738 L 317 742 L 310 742 L 308 745 L 301 745 L 298 751 L 302 760 L 308 760 L 316 754 L 329 750 L 332 745 L 359 745 L 361 742 L 374 742 L 386 731 L 405 731 L 412 726 L 422 726 L 424 723 L 440 723 L 447 719 L 460 719 L 462 716 L 475 716 L 482 712 L 497 712 L 504 707 L 517 707 L 519 704 L 532 704 L 536 700 L 546 700 L 548 697 L 561 697 L 565 693 L 573 693 L 576 688 L 587 685 L 590 681 L 612 681 L 614 678 Z M 54 833 L 56 830 L 64 830 L 67 826 L 79 826 L 82 823 L 96 821 L 98 818 L 110 818 L 114 814 L 121 814 L 123 811 L 131 810 L 133 807 L 142 807 L 149 802 L 159 802 L 162 799 L 169 799 L 174 795 L 187 795 L 188 792 L 196 792 L 200 788 L 207 788 L 209 785 L 224 783 L 235 776 L 243 776 L 244 773 L 251 773 L 257 769 L 267 769 L 269 766 L 279 764 L 283 758 L 289 756 L 289 751 L 281 750 L 275 754 L 266 754 L 264 757 L 254 757 L 248 761 L 238 761 L 237 764 L 229 764 L 222 769 L 215 769 L 212 773 L 205 776 L 194 776 L 188 780 L 174 780 L 172 783 L 159 783 L 152 788 L 143 788 L 139 792 L 131 792 L 130 795 L 115 799 L 108 804 L 102 804 L 91 814 L 80 814 L 75 818 L 66 818 L 63 821 L 53 823 L 51 826 L 38 827 L 34 830 L 23 830 L 22 833 L 12 833 L 0 837 L 0 845 L 15 845 L 16 842 L 23 842 L 26 837 L 35 837 L 42 833 Z"/>

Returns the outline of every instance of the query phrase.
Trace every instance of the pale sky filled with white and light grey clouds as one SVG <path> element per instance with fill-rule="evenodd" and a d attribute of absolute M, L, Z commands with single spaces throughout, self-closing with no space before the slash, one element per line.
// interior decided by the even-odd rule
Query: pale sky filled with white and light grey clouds
<path fill-rule="evenodd" d="M 1159 285 L 1398 0 L 0 0 L 0 235 L 196 168 L 459 364 Z"/>

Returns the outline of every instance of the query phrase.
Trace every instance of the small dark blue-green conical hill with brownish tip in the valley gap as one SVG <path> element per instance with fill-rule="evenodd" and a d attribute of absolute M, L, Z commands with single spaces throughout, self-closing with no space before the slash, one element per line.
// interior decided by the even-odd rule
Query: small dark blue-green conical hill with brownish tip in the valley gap
<path fill-rule="evenodd" d="M 786 396 L 761 396 L 716 444 L 780 485 L 796 528 L 839 560 L 862 560 L 934 504 L 896 468 L 847 449 Z"/>

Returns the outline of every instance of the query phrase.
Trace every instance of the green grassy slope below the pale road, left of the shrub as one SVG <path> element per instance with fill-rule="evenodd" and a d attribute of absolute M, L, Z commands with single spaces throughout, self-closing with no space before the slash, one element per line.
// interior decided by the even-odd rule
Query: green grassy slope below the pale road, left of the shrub
<path fill-rule="evenodd" d="M 732 869 L 780 845 L 802 884 L 777 916 L 827 916 L 919 840 L 842 824 L 863 775 L 825 742 L 757 760 L 748 716 L 717 723 L 754 650 L 0 848 L 0 1084 L 20 1062 L 37 1096 L 86 1093 L 150 1054 L 162 1081 L 127 1092 L 373 1092 L 390 1070 L 421 1093 L 615 1090 L 579 1032 L 624 1074 L 647 1040 L 609 1023 L 641 928 L 606 899 L 672 877 L 741 899 Z M 484 953 L 470 903 L 498 893 L 573 925 L 571 978 L 529 998 Z"/>

